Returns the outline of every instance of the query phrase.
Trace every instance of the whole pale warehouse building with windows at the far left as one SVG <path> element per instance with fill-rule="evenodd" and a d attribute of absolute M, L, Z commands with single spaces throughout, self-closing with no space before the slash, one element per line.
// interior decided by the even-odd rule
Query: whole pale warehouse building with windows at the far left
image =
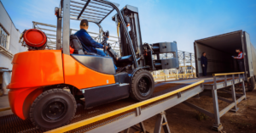
<path fill-rule="evenodd" d="M 3 3 L 0 1 L 0 96 L 7 94 L 6 84 L 9 84 L 12 59 L 16 53 L 26 51 L 19 43 L 20 30 L 15 27 Z M 3 91 L 4 90 L 4 91 Z"/>

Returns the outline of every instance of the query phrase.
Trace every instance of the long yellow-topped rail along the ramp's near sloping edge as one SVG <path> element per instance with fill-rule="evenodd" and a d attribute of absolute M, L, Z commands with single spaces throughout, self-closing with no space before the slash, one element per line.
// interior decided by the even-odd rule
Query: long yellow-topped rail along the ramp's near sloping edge
<path fill-rule="evenodd" d="M 188 90 L 191 87 L 199 86 L 203 82 L 204 82 L 204 80 L 200 80 L 200 81 L 195 82 L 194 84 L 191 84 L 189 86 L 184 86 L 184 87 L 182 87 L 180 89 L 177 89 L 176 91 L 171 91 L 171 92 L 168 92 L 166 94 L 160 95 L 159 97 L 150 98 L 150 99 L 145 100 L 143 102 L 135 103 L 135 104 L 132 104 L 132 105 L 127 106 L 125 108 L 119 108 L 117 110 L 113 110 L 113 111 L 108 112 L 106 114 L 101 114 L 101 115 L 98 115 L 98 116 L 90 118 L 90 119 L 84 119 L 84 120 L 81 120 L 79 122 L 73 123 L 71 125 L 66 125 L 66 126 L 57 128 L 55 130 L 49 130 L 49 131 L 47 131 L 47 133 L 59 133 L 59 132 L 66 132 L 68 130 L 74 130 L 74 129 L 77 129 L 77 128 L 81 127 L 81 126 L 90 125 L 90 124 L 92 124 L 92 123 L 94 123 L 96 121 L 99 121 L 99 120 L 102 120 L 102 119 L 107 119 L 109 117 L 112 117 L 112 116 L 117 115 L 117 114 L 124 113 L 126 111 L 131 110 L 131 109 L 137 109 L 138 110 L 143 105 L 146 105 L 148 103 L 156 102 L 156 101 L 164 99 L 166 97 L 170 97 L 170 96 L 172 96 L 174 94 L 177 94 L 178 92 L 181 92 L 181 91 L 186 91 L 186 90 Z"/>

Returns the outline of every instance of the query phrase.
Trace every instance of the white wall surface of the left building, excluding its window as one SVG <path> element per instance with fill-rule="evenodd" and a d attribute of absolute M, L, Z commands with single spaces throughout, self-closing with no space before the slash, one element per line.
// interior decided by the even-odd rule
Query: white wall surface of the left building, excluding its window
<path fill-rule="evenodd" d="M 0 24 L 9 33 L 8 47 L 3 49 L 0 47 L 0 67 L 12 69 L 12 58 L 16 53 L 25 52 L 26 47 L 22 47 L 19 43 L 20 30 L 16 29 L 13 21 L 10 19 L 9 14 L 3 7 L 0 1 Z M 9 55 L 7 54 L 9 53 Z M 12 56 L 10 56 L 12 55 Z"/>

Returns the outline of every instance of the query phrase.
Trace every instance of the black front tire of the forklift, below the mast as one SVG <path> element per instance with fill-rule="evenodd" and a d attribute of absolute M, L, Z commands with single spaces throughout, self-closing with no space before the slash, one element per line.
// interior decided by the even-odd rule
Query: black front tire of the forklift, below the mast
<path fill-rule="evenodd" d="M 143 101 L 154 91 L 154 78 L 146 69 L 139 69 L 131 79 L 131 98 Z"/>

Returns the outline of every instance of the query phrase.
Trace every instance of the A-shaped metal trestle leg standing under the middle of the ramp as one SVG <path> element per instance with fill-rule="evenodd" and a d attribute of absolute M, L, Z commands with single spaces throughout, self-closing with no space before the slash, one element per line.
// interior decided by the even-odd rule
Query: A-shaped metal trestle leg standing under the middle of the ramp
<path fill-rule="evenodd" d="M 161 112 L 160 114 L 157 114 L 156 122 L 154 125 L 154 133 L 160 133 L 162 127 L 165 133 L 171 133 L 167 119 L 166 119 L 165 112 Z"/>

